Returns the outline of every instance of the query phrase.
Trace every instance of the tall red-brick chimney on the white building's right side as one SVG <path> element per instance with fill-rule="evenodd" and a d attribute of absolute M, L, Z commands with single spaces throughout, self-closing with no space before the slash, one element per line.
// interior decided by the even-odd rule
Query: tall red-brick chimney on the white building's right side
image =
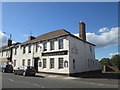
<path fill-rule="evenodd" d="M 85 23 L 80 21 L 79 22 L 79 37 L 84 41 L 86 41 L 86 30 L 85 29 L 86 29 Z"/>

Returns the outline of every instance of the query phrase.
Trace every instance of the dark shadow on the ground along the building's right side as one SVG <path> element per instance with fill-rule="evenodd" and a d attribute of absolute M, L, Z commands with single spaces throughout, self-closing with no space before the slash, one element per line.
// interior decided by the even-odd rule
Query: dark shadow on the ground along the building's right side
<path fill-rule="evenodd" d="M 84 72 L 70 75 L 80 78 L 95 78 L 95 79 L 120 79 L 120 73 L 102 73 L 101 71 Z"/>

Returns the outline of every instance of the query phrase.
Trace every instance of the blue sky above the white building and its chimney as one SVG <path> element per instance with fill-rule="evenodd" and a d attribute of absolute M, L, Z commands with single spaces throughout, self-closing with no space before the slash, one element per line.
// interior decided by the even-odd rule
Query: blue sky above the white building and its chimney
<path fill-rule="evenodd" d="M 86 23 L 86 32 L 89 33 L 88 41 L 99 44 L 99 47 L 96 47 L 96 58 L 111 57 L 110 53 L 118 51 L 114 34 L 112 35 L 118 27 L 117 5 L 117 2 L 2 3 L 2 31 L 11 33 L 15 42 L 24 42 L 30 32 L 34 36 L 39 36 L 50 31 L 66 29 L 77 34 L 78 23 L 83 21 Z M 107 42 L 103 45 L 102 42 L 99 43 L 99 39 L 98 42 L 95 41 L 96 38 L 91 38 L 93 33 L 99 38 L 107 37 L 109 42 L 103 40 Z"/>

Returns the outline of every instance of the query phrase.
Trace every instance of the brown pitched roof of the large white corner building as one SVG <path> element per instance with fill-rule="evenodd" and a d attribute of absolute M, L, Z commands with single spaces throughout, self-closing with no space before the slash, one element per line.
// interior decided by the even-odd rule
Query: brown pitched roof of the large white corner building
<path fill-rule="evenodd" d="M 70 35 L 70 36 L 72 36 L 76 39 L 79 39 L 79 40 L 83 41 L 81 38 L 71 34 L 70 32 L 66 31 L 65 29 L 60 29 L 60 30 L 56 30 L 56 31 L 52 31 L 52 32 L 48 32 L 46 34 L 40 35 L 40 36 L 36 37 L 35 39 L 25 41 L 25 42 L 21 43 L 20 45 L 34 43 L 34 42 L 37 42 L 37 41 L 44 41 L 44 40 L 48 40 L 48 39 L 52 39 L 52 38 L 57 38 L 57 37 L 60 37 L 60 36 L 65 36 L 65 35 Z M 83 41 L 83 42 L 86 42 L 86 43 L 89 43 L 89 44 L 95 46 L 94 44 L 92 44 L 90 42 L 87 42 L 87 41 Z"/>

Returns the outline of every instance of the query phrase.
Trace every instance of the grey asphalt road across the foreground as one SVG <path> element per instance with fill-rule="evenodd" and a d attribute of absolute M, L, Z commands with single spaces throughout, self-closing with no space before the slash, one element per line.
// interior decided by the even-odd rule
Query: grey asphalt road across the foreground
<path fill-rule="evenodd" d="M 61 79 L 43 76 L 21 76 L 2 73 L 2 88 L 118 88 L 116 84 L 100 84 L 82 79 Z"/>

